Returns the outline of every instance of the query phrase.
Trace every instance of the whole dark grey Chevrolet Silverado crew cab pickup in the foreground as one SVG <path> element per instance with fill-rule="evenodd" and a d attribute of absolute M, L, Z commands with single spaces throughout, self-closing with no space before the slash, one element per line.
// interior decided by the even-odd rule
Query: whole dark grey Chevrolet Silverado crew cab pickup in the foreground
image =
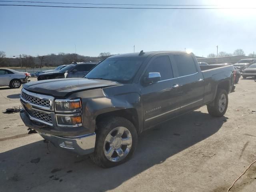
<path fill-rule="evenodd" d="M 20 116 L 54 146 L 108 168 L 129 160 L 138 134 L 161 122 L 204 105 L 223 116 L 234 80 L 233 66 L 199 66 L 192 53 L 119 54 L 84 78 L 25 84 Z"/>

